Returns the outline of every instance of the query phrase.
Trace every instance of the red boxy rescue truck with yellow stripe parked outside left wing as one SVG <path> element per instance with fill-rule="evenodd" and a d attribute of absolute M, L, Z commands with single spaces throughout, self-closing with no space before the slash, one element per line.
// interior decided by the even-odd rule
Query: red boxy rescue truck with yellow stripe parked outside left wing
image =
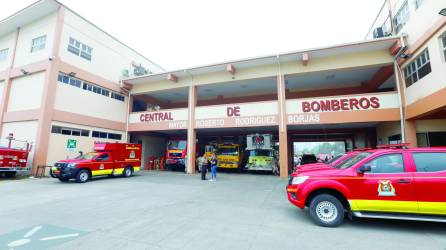
<path fill-rule="evenodd" d="M 141 144 L 96 142 L 93 152 L 58 161 L 50 174 L 62 182 L 75 179 L 79 183 L 95 176 L 130 177 L 141 167 L 141 148 Z"/>

